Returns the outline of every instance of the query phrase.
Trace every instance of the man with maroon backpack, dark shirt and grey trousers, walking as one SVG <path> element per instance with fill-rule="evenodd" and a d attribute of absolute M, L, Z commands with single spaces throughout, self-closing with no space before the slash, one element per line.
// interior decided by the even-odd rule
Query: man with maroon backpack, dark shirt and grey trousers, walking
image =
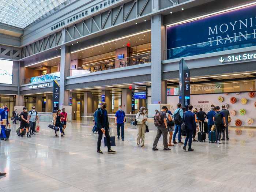
<path fill-rule="evenodd" d="M 168 148 L 168 129 L 167 129 L 167 121 L 166 121 L 166 112 L 168 111 L 166 106 L 163 106 L 160 112 L 160 116 L 161 116 L 161 125 L 159 125 L 158 123 L 158 127 L 157 127 L 157 135 L 155 136 L 155 141 L 153 143 L 153 147 L 152 150 L 153 151 L 157 151 L 157 143 L 158 140 L 160 139 L 161 135 L 163 134 L 163 150 L 164 151 L 169 151 L 171 150 L 170 148 Z M 158 121 L 159 122 L 159 121 Z"/>

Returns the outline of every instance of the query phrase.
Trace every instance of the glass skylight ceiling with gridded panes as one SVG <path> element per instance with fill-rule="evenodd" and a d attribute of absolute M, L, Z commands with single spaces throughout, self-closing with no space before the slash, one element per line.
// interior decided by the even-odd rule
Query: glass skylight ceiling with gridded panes
<path fill-rule="evenodd" d="M 24 29 L 67 0 L 0 0 L 0 22 Z M 54 11 L 53 11 L 54 12 Z"/>

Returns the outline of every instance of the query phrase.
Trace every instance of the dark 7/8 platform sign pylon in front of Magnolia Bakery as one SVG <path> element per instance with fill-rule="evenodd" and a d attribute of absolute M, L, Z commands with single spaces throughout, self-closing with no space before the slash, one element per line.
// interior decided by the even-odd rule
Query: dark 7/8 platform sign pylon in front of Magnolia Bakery
<path fill-rule="evenodd" d="M 184 59 L 179 62 L 179 96 L 182 107 L 187 111 L 190 104 L 190 71 Z"/>

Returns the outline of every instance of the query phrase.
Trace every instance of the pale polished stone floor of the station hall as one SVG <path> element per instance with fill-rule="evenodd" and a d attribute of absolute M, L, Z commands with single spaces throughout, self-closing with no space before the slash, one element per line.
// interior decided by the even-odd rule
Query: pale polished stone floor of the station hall
<path fill-rule="evenodd" d="M 146 147 L 138 147 L 136 129 L 125 129 L 117 154 L 98 154 L 90 124 L 69 123 L 64 138 L 55 138 L 48 123 L 31 138 L 19 138 L 12 127 L 10 141 L 1 141 L 0 172 L 7 176 L 0 177 L 0 192 L 256 191 L 254 131 L 231 129 L 229 142 L 193 142 L 195 151 L 184 152 L 181 145 L 163 151 L 162 138 L 152 151 L 152 130 Z"/>

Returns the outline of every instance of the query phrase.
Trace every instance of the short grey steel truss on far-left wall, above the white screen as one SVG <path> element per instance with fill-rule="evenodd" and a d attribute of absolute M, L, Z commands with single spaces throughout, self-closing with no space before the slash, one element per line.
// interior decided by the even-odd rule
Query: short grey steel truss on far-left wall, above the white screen
<path fill-rule="evenodd" d="M 0 58 L 3 59 L 20 59 L 20 48 L 0 45 Z"/>

